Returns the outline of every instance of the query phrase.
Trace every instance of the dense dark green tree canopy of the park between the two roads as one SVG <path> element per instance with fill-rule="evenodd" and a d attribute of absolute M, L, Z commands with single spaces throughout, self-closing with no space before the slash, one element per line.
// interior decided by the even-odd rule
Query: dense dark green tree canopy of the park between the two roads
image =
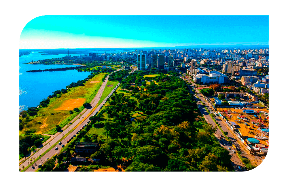
<path fill-rule="evenodd" d="M 98 165 L 113 165 L 124 157 L 129 161 L 125 171 L 232 171 L 231 155 L 215 140 L 215 128 L 201 116 L 187 84 L 160 73 L 155 77 L 157 84 L 145 85 L 143 75 L 147 74 L 151 71 L 136 71 L 123 79 L 123 87 L 132 81 L 140 89 L 129 95 L 114 92 L 105 109 L 90 117 L 87 129 L 73 142 L 86 135 L 85 141 L 97 139 L 100 148 L 90 158 L 100 159 Z M 135 112 L 145 116 L 134 122 Z M 88 135 L 91 127 L 104 127 L 107 137 Z M 58 163 L 71 158 L 74 145 L 57 157 Z"/>

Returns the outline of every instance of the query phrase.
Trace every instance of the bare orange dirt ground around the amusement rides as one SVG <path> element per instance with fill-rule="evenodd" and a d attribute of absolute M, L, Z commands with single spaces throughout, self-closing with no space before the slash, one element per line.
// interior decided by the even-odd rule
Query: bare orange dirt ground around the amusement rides
<path fill-rule="evenodd" d="M 247 108 L 247 109 L 250 109 L 250 108 Z M 223 108 L 217 108 L 217 110 L 221 112 L 221 111 L 223 111 L 223 110 L 225 110 L 225 109 L 223 109 Z M 226 110 L 228 110 L 228 109 L 226 108 Z M 231 110 L 231 112 L 228 112 L 228 114 L 229 114 L 229 115 L 232 115 L 231 117 L 228 117 L 228 115 L 226 114 L 226 112 L 223 112 L 222 115 L 225 116 L 225 117 L 228 119 L 228 121 L 235 122 L 235 123 L 238 125 L 238 127 L 236 127 L 236 128 L 237 128 L 238 130 L 240 130 L 240 132 L 242 133 L 242 138 L 243 138 L 244 140 L 246 140 L 247 138 L 255 138 L 256 133 L 259 133 L 259 132 L 260 132 L 260 131 L 257 130 L 257 129 L 258 129 L 258 126 L 253 125 L 253 124 L 251 123 L 252 120 L 254 120 L 255 122 L 258 120 L 258 119 L 255 119 L 255 118 L 254 118 L 254 115 L 255 115 L 255 114 L 253 114 L 253 115 L 243 114 L 243 109 L 229 108 L 229 110 Z M 252 109 L 250 109 L 250 110 L 268 112 L 268 110 L 265 109 L 265 108 L 252 108 Z M 240 113 L 240 114 L 242 114 L 242 115 L 244 115 L 245 117 L 247 117 L 247 120 L 248 120 L 248 121 L 247 121 L 247 124 L 248 124 L 249 126 L 248 126 L 248 125 L 245 125 L 243 120 L 237 118 L 237 116 L 239 115 L 237 112 Z M 263 113 L 259 113 L 259 115 L 257 114 L 257 116 L 260 117 L 260 114 L 261 114 L 261 118 L 262 118 L 262 119 L 266 118 L 266 116 L 263 115 Z M 235 121 L 235 120 L 240 120 L 240 122 Z M 263 121 L 264 121 L 264 120 L 263 120 Z M 259 122 L 259 121 L 258 121 L 258 122 Z M 257 122 L 257 123 L 258 123 L 258 122 Z M 266 127 L 268 127 L 268 125 L 269 125 L 268 122 L 269 122 L 269 120 L 267 120 L 267 122 L 264 122 L 264 125 L 265 125 Z M 254 126 L 254 127 L 252 127 L 252 126 Z M 249 129 L 249 127 L 250 127 L 251 129 Z M 250 131 L 251 133 L 249 133 L 249 131 Z M 260 141 L 261 144 L 264 144 L 264 145 L 268 146 L 266 140 L 261 140 L 261 139 L 259 139 L 259 141 Z"/>

